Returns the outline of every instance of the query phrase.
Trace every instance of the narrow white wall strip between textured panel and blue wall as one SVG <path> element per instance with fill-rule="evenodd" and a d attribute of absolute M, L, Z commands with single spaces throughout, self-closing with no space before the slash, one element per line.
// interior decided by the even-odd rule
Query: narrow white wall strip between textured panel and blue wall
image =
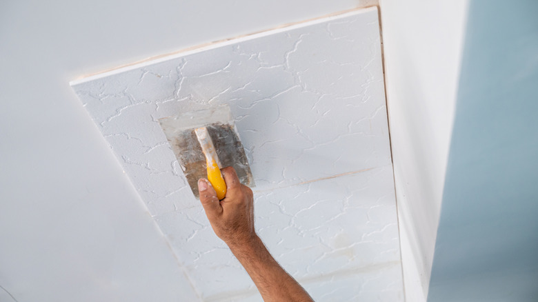
<path fill-rule="evenodd" d="M 454 117 L 467 1 L 381 0 L 407 301 L 425 301 Z"/>

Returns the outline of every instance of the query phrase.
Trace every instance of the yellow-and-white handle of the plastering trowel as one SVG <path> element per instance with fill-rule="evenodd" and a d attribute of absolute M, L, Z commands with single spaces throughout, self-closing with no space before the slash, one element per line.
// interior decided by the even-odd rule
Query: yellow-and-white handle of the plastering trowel
<path fill-rule="evenodd" d="M 215 146 L 209 136 L 208 129 L 206 127 L 195 129 L 196 136 L 200 143 L 203 154 L 206 156 L 206 164 L 208 166 L 208 181 L 217 192 L 219 200 L 224 199 L 226 196 L 226 182 L 222 177 L 221 170 L 219 169 L 219 157 L 215 152 Z"/>

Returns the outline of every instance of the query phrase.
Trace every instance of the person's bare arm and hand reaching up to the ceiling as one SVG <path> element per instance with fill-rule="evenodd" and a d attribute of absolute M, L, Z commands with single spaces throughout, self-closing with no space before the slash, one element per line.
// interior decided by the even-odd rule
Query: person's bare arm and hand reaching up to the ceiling
<path fill-rule="evenodd" d="M 256 234 L 252 190 L 239 183 L 233 168 L 221 171 L 228 187 L 226 197 L 221 201 L 209 181 L 198 181 L 200 201 L 215 234 L 241 262 L 263 301 L 312 301 L 301 285 L 275 261 Z"/>

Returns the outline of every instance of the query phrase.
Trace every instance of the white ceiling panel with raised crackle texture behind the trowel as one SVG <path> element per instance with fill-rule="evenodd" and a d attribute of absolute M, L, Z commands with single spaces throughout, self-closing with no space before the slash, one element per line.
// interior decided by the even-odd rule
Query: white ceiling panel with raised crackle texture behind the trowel
<path fill-rule="evenodd" d="M 259 301 L 213 234 L 158 119 L 230 105 L 257 228 L 319 301 L 402 301 L 376 8 L 72 83 L 205 301 Z"/>

